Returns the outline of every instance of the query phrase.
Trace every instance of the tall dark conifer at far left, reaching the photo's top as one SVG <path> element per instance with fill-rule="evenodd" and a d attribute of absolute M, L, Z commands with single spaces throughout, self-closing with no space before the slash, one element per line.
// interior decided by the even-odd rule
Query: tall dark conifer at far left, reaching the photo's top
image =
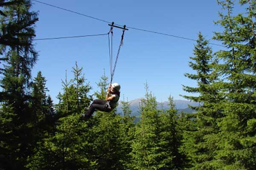
<path fill-rule="evenodd" d="M 37 13 L 30 11 L 29 0 L 3 1 L 0 25 L 0 53 L 4 67 L 0 81 L 1 119 L 5 121 L 0 143 L 0 162 L 3 169 L 24 169 L 26 158 L 32 152 L 32 112 L 29 107 L 31 69 L 38 54 L 32 44 Z M 7 122 L 6 122 L 7 120 Z"/>

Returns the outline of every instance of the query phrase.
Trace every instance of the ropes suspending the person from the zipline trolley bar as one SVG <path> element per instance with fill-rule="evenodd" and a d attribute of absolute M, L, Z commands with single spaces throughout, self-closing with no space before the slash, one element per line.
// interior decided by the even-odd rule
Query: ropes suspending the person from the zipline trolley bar
<path fill-rule="evenodd" d="M 119 56 L 119 53 L 120 53 L 121 46 L 123 45 L 125 30 L 128 30 L 128 29 L 125 28 L 126 27 L 125 25 L 122 28 L 122 36 L 121 36 L 119 48 L 117 50 L 115 64 L 114 64 L 114 67 L 113 67 L 113 27 L 117 27 L 117 28 L 121 28 L 121 27 L 114 26 L 114 22 L 112 22 L 112 24 L 110 26 L 111 27 L 110 27 L 110 30 L 108 32 L 108 47 L 109 47 L 109 62 L 110 62 L 110 75 L 111 75 L 110 84 L 112 84 L 112 80 L 113 80 L 114 73 L 115 73 L 115 70 L 116 70 L 116 63 L 117 63 L 117 60 L 118 60 L 118 56 Z M 111 33 L 111 42 L 110 42 L 110 37 L 109 37 L 110 33 Z"/>

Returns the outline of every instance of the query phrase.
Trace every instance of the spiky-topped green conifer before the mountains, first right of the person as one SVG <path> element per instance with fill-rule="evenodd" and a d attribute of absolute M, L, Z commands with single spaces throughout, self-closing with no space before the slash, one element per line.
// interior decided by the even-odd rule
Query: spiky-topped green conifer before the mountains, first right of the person
<path fill-rule="evenodd" d="M 160 135 L 162 122 L 156 98 L 148 91 L 147 83 L 145 90 L 145 99 L 140 104 L 141 122 L 136 127 L 132 144 L 130 169 L 168 169 L 167 164 L 172 161 L 172 157 L 163 148 L 163 143 L 166 144 L 167 141 Z"/>

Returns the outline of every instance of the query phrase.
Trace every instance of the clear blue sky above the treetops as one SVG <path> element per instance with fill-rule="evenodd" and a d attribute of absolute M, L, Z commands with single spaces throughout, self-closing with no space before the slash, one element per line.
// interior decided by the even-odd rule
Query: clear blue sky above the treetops
<path fill-rule="evenodd" d="M 207 39 L 212 38 L 213 31 L 220 31 L 213 23 L 218 20 L 218 11 L 221 10 L 215 0 L 41 1 L 120 25 L 191 39 L 197 39 L 199 31 Z M 37 2 L 33 2 L 32 10 L 39 13 L 36 38 L 105 34 L 110 28 L 107 23 Z M 113 51 L 116 54 L 122 30 L 114 28 L 113 31 Z M 99 82 L 103 69 L 110 77 L 107 35 L 44 40 L 35 44 L 39 60 L 32 75 L 35 77 L 38 71 L 42 71 L 54 102 L 57 102 L 58 92 L 62 91 L 61 79 L 65 79 L 65 70 L 68 79 L 72 78 L 71 70 L 76 61 L 83 67 L 85 78 L 93 87 L 91 93 L 98 90 L 96 82 Z M 167 101 L 170 94 L 175 99 L 183 99 L 179 96 L 186 94 L 182 85 L 196 85 L 183 75 L 192 73 L 188 62 L 194 45 L 194 41 L 130 29 L 125 32 L 113 82 L 119 82 L 121 94 L 129 100 L 144 96 L 146 81 L 159 102 Z M 211 46 L 213 51 L 221 49 Z"/>

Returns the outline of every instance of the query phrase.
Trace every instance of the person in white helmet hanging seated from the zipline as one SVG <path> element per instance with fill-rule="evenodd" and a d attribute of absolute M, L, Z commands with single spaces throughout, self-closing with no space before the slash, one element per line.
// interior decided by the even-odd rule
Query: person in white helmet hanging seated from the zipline
<path fill-rule="evenodd" d="M 99 111 L 110 112 L 116 107 L 116 103 L 120 97 L 121 86 L 118 83 L 113 83 L 108 86 L 108 93 L 106 100 L 95 99 L 93 100 L 90 108 L 85 114 L 82 114 L 82 118 L 89 119 L 93 112 L 97 109 Z"/>

